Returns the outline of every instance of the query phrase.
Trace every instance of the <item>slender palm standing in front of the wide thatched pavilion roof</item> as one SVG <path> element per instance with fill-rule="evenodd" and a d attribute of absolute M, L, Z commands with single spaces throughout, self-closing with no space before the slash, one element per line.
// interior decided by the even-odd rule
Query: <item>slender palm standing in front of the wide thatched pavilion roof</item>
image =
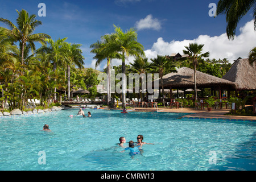
<path fill-rule="evenodd" d="M 204 44 L 197 43 L 189 43 L 189 46 L 185 46 L 187 50 L 183 50 L 184 54 L 188 55 L 188 60 L 192 62 L 194 69 L 194 82 L 195 82 L 195 101 L 197 101 L 197 91 L 196 91 L 196 67 L 197 61 L 201 59 L 201 57 L 209 57 L 209 52 L 202 53 Z"/>

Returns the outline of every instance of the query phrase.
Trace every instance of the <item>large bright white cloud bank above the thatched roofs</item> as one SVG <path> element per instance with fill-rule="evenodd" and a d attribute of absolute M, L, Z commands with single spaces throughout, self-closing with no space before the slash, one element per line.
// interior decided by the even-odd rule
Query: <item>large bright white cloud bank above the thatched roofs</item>
<path fill-rule="evenodd" d="M 171 53 L 179 52 L 183 54 L 184 46 L 189 43 L 204 44 L 203 52 L 210 52 L 210 59 L 228 58 L 230 63 L 238 57 L 246 58 L 250 50 L 255 47 L 256 32 L 254 31 L 254 20 L 247 22 L 245 26 L 240 28 L 240 35 L 235 36 L 234 40 L 229 40 L 226 33 L 220 36 L 200 35 L 193 40 L 182 40 L 165 42 L 163 38 L 158 38 L 151 49 L 145 51 L 148 59 L 154 58 L 157 55 L 170 55 Z"/>

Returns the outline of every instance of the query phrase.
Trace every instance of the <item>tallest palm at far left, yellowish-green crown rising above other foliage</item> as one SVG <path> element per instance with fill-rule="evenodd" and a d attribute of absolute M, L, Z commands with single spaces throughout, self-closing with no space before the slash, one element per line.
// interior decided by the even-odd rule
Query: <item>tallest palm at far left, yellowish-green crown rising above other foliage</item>
<path fill-rule="evenodd" d="M 0 27 L 0 34 L 7 36 L 13 42 L 20 43 L 21 62 L 23 64 L 24 48 L 26 47 L 26 44 L 30 43 L 32 51 L 35 51 L 36 48 L 34 42 L 40 42 L 41 44 L 44 44 L 44 39 L 51 38 L 51 36 L 42 33 L 33 34 L 35 28 L 42 24 L 42 22 L 35 19 L 36 15 L 29 15 L 26 10 L 16 11 L 18 13 L 18 18 L 16 19 L 18 27 L 16 27 L 10 20 L 0 18 L 0 22 L 3 22 L 10 27 L 10 30 Z"/>

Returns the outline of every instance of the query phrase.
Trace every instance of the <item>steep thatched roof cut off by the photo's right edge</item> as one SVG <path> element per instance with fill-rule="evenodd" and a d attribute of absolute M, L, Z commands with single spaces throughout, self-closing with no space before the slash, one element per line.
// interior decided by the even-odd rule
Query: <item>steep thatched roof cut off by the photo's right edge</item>
<path fill-rule="evenodd" d="M 256 64 L 253 66 L 248 59 L 236 60 L 222 78 L 235 82 L 237 90 L 256 90 Z"/>

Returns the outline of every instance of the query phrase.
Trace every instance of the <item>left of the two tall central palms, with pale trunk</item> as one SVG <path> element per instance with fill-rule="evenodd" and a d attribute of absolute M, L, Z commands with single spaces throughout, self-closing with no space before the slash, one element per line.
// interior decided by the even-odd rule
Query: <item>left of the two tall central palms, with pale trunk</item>
<path fill-rule="evenodd" d="M 117 47 L 114 44 L 114 34 L 106 34 L 101 37 L 101 42 L 97 41 L 96 43 L 90 45 L 90 48 L 93 48 L 91 53 L 96 53 L 96 56 L 93 59 L 97 59 L 95 67 L 103 60 L 107 60 L 107 75 L 108 75 L 108 88 L 107 88 L 107 104 L 110 104 L 111 98 L 111 60 L 114 58 L 121 59 L 121 54 L 119 54 L 116 50 Z"/>

